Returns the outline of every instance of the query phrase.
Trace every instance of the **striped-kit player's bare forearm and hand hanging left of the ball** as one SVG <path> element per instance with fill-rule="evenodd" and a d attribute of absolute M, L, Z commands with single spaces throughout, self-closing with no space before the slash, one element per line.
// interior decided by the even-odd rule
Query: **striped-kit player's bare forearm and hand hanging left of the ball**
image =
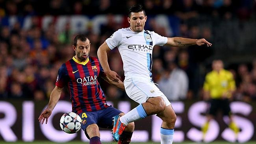
<path fill-rule="evenodd" d="M 63 88 L 59 88 L 57 86 L 55 86 L 55 88 L 52 90 L 52 93 L 50 95 L 50 101 L 48 103 L 48 107 L 43 111 L 43 113 L 40 114 L 40 116 L 38 118 L 38 120 L 41 124 L 43 124 L 45 122 L 45 120 L 46 120 L 45 124 L 47 124 L 48 118 L 52 114 L 52 110 L 54 109 L 57 102 L 59 101 L 62 90 L 63 90 Z"/>

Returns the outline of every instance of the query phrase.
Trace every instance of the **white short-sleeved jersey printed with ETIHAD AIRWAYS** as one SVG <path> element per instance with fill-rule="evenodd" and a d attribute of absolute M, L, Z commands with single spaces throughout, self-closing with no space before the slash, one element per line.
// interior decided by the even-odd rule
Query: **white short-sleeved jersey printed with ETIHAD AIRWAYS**
<path fill-rule="evenodd" d="M 131 28 L 122 28 L 106 42 L 112 50 L 117 47 L 124 63 L 125 79 L 146 78 L 152 81 L 152 50 L 154 45 L 163 46 L 167 37 L 158 35 L 154 31 L 134 32 Z"/>

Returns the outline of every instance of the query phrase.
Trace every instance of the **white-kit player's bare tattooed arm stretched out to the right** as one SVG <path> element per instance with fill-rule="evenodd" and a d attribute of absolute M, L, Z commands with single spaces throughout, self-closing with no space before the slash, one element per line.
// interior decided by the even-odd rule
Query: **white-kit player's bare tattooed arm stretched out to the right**
<path fill-rule="evenodd" d="M 205 39 L 187 39 L 182 37 L 168 37 L 166 45 L 168 46 L 191 46 L 191 45 L 198 45 L 202 46 L 206 44 L 207 46 L 211 46 L 212 44 Z"/>

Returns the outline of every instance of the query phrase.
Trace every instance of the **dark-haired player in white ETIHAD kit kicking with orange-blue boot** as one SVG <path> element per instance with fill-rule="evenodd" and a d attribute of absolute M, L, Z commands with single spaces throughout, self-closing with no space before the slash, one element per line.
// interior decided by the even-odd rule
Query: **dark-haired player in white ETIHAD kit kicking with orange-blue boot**
<path fill-rule="evenodd" d="M 124 87 L 127 95 L 139 105 L 123 116 L 115 116 L 113 138 L 118 141 L 124 128 L 130 122 L 157 114 L 163 122 L 160 128 L 161 144 L 172 144 L 176 114 L 166 96 L 152 81 L 152 50 L 154 45 L 163 46 L 201 46 L 211 43 L 205 39 L 186 39 L 181 37 L 162 37 L 154 31 L 145 31 L 147 20 L 141 5 L 129 9 L 129 28 L 122 28 L 109 37 L 98 49 L 98 58 L 107 74 L 113 81 L 119 81 L 120 76 L 108 65 L 107 52 L 117 47 L 124 63 Z"/>

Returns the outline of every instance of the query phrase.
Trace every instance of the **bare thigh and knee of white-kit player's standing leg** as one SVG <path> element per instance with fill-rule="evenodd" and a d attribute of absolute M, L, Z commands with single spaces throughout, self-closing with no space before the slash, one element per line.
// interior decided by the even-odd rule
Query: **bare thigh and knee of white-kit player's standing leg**
<path fill-rule="evenodd" d="M 176 114 L 173 110 L 172 105 L 166 106 L 164 111 L 158 113 L 156 116 L 160 117 L 163 120 L 163 122 L 175 123 L 176 121 Z"/>

